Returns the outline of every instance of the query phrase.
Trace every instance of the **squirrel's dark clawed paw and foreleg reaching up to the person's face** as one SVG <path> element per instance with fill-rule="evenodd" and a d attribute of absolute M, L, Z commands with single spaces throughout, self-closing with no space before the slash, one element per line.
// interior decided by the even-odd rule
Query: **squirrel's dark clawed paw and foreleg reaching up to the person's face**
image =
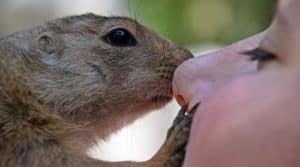
<path fill-rule="evenodd" d="M 195 105 L 189 112 L 187 112 L 187 106 L 182 107 L 174 120 L 173 125 L 169 129 L 166 142 L 169 146 L 170 152 L 164 163 L 165 167 L 182 166 L 186 152 L 186 145 L 189 139 L 193 114 L 197 110 L 198 105 L 199 104 Z"/>

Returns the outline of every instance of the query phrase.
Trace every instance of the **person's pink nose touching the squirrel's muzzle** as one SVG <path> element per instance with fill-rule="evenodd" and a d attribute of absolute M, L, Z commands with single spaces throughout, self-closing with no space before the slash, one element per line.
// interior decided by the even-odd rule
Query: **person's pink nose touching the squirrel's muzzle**
<path fill-rule="evenodd" d="M 193 106 L 230 80 L 256 71 L 256 62 L 241 53 L 257 47 L 257 41 L 257 37 L 247 39 L 181 64 L 174 73 L 172 83 L 177 102 Z"/>

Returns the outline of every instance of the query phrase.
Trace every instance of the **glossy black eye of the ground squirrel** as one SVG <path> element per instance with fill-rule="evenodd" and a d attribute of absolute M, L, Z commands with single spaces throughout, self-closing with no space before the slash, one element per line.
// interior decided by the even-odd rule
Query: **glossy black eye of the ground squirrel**
<path fill-rule="evenodd" d="M 104 41 L 118 47 L 136 46 L 133 35 L 124 28 L 116 28 L 103 37 Z"/>

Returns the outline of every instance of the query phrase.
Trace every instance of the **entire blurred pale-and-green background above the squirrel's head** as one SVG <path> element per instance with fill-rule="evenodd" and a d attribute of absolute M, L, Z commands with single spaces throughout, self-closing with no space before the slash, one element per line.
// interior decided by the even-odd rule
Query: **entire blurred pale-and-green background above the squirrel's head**
<path fill-rule="evenodd" d="M 226 45 L 265 29 L 275 0 L 1 0 L 0 36 L 45 20 L 93 12 L 125 15 L 177 44 Z"/>

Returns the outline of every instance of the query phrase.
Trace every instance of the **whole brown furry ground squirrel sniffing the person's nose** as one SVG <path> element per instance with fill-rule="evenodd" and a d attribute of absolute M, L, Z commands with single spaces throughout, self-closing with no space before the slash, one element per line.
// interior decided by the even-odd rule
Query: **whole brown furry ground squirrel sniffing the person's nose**
<path fill-rule="evenodd" d="M 124 17 L 65 17 L 2 38 L 1 167 L 166 166 L 190 123 L 182 113 L 147 162 L 103 162 L 86 151 L 169 102 L 173 72 L 191 57 Z"/>

